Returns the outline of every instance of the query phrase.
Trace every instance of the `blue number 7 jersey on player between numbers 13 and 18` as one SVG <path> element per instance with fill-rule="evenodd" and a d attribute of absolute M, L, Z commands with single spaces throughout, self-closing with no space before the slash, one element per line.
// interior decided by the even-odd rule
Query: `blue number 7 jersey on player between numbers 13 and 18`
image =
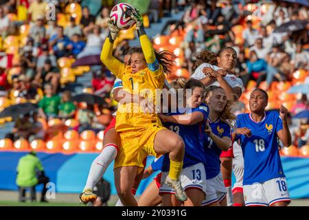
<path fill-rule="evenodd" d="M 216 122 L 211 122 L 208 118 L 209 126 L 211 131 L 218 137 L 229 137 L 231 138 L 231 127 L 227 122 L 224 122 L 220 119 Z M 216 177 L 220 173 L 220 155 L 222 150 L 218 148 L 217 144 L 207 136 L 205 133 L 205 153 L 206 153 L 206 179 L 211 179 Z"/>

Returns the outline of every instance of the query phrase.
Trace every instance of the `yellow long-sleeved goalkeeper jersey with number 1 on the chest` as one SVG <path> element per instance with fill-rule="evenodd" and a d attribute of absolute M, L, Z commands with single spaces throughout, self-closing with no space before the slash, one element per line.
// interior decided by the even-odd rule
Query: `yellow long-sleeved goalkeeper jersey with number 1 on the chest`
<path fill-rule="evenodd" d="M 112 56 L 113 44 L 109 38 L 106 39 L 102 48 L 101 60 L 117 78 L 122 80 L 125 91 L 139 94 L 155 104 L 155 89 L 162 89 L 165 81 L 163 67 L 157 63 L 148 36 L 140 36 L 140 41 L 148 64 L 146 69 L 133 74 L 130 66 L 124 65 Z M 116 131 L 128 131 L 148 126 L 162 126 L 156 113 L 144 114 L 138 103 L 123 104 L 120 100 L 117 109 Z"/>

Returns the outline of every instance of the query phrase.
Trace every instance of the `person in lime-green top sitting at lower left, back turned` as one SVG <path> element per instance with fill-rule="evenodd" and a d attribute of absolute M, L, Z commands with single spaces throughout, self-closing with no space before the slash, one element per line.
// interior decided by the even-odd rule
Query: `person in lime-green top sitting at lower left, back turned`
<path fill-rule="evenodd" d="M 41 193 L 41 202 L 47 202 L 45 195 L 47 192 L 46 185 L 49 182 L 49 178 L 45 176 L 44 168 L 40 159 L 36 156 L 34 151 L 19 159 L 19 164 L 16 168 L 17 177 L 16 185 L 20 187 L 32 187 L 39 184 L 43 184 L 43 190 Z M 36 177 L 38 175 L 38 177 Z M 21 197 L 21 201 L 25 201 L 24 196 Z"/>

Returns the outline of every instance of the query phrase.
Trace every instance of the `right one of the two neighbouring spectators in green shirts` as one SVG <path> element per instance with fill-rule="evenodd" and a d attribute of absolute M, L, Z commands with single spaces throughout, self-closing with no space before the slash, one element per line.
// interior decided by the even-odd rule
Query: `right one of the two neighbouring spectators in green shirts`
<path fill-rule="evenodd" d="M 72 118 L 76 111 L 76 106 L 71 100 L 71 91 L 64 91 L 62 93 L 61 104 L 59 105 L 59 118 L 67 120 Z"/>

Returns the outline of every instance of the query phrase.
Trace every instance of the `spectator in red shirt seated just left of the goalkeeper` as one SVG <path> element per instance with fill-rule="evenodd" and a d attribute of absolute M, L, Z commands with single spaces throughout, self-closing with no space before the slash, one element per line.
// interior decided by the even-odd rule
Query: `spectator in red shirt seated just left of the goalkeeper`
<path fill-rule="evenodd" d="M 97 96 L 106 96 L 111 92 L 111 88 L 114 84 L 114 78 L 107 77 L 106 71 L 108 71 L 105 67 L 102 70 L 98 70 L 95 72 L 93 80 L 92 80 L 92 87 L 94 89 L 94 94 Z"/>

